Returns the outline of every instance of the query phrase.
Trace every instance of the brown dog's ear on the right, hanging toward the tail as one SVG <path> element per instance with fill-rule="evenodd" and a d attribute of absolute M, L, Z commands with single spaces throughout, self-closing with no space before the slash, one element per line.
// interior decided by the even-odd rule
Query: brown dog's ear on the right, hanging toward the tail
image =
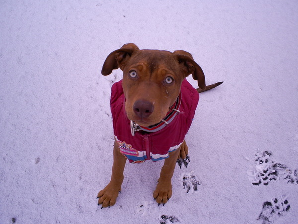
<path fill-rule="evenodd" d="M 198 81 L 198 86 L 204 90 L 206 87 L 204 72 L 194 61 L 192 55 L 183 50 L 174 51 L 174 55 L 176 56 L 181 69 L 185 72 L 186 76 L 192 74 L 194 80 Z"/>

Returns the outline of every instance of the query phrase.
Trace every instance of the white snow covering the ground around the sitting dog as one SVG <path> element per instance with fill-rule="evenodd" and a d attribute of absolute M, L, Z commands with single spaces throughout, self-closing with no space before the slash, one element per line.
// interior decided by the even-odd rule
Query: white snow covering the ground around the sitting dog
<path fill-rule="evenodd" d="M 298 223 L 295 0 L 1 0 L 0 30 L 0 223 Z M 153 201 L 163 162 L 149 161 L 101 209 L 122 74 L 100 71 L 130 42 L 186 50 L 224 84 L 200 94 L 170 201 Z M 253 185 L 265 157 L 278 178 Z"/>

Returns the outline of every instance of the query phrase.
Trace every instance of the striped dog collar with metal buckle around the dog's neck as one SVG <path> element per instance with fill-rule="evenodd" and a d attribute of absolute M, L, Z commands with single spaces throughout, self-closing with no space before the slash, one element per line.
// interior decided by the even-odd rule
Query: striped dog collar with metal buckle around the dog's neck
<path fill-rule="evenodd" d="M 176 102 L 170 107 L 170 110 L 167 112 L 166 116 L 159 123 L 153 124 L 149 127 L 143 127 L 135 123 L 135 121 L 131 120 L 130 127 L 131 127 L 132 136 L 135 136 L 136 131 L 142 130 L 142 131 L 153 133 L 169 125 L 180 112 L 179 108 L 180 108 L 181 99 L 182 99 L 181 95 L 182 94 L 180 91 Z"/>

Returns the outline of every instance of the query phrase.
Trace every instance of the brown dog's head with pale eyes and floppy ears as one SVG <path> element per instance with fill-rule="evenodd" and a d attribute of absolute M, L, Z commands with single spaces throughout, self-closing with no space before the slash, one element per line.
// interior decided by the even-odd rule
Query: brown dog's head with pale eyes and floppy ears
<path fill-rule="evenodd" d="M 178 50 L 140 50 L 135 44 L 123 45 L 106 58 L 101 73 L 123 71 L 125 111 L 141 126 L 159 123 L 176 101 L 183 79 L 192 74 L 205 89 L 205 76 L 190 53 Z"/>

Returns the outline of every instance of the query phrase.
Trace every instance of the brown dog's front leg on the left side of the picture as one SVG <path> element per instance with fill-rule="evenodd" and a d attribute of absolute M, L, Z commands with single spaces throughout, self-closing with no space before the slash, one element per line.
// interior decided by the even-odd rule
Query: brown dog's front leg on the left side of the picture
<path fill-rule="evenodd" d="M 123 171 L 125 167 L 125 162 L 126 158 L 120 153 L 118 143 L 115 139 L 111 181 L 97 195 L 97 198 L 99 198 L 98 205 L 102 204 L 101 208 L 113 206 L 116 203 L 116 199 L 118 197 L 119 192 L 121 191 L 121 185 L 124 178 Z"/>

